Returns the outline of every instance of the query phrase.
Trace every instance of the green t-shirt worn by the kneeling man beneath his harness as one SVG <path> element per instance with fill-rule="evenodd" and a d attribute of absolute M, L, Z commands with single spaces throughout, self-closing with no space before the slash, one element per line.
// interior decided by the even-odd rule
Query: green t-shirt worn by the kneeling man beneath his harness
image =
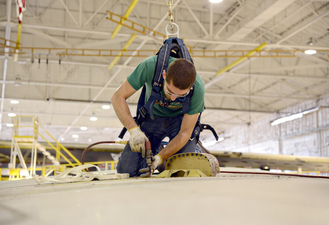
<path fill-rule="evenodd" d="M 172 63 L 175 59 L 176 58 L 169 57 L 168 64 Z M 148 57 L 127 77 L 129 84 L 135 90 L 139 90 L 146 84 L 145 103 L 151 96 L 152 80 L 156 63 L 157 56 Z M 190 100 L 190 111 L 187 113 L 189 115 L 201 113 L 204 110 L 205 86 L 198 73 L 196 73 L 195 87 L 193 89 L 193 95 Z M 162 96 L 165 96 L 164 90 L 161 92 Z M 153 114 L 155 117 L 180 115 L 182 114 L 182 103 L 173 102 L 168 107 L 164 107 L 163 102 L 156 101 L 153 105 Z M 150 114 L 148 113 L 148 115 Z"/>

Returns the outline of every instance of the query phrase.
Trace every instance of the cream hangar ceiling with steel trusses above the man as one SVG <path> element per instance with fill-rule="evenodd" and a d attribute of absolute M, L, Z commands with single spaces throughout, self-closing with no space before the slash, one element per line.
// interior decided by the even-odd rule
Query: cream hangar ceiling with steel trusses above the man
<path fill-rule="evenodd" d="M 40 124 L 62 142 L 118 139 L 122 125 L 112 107 L 103 109 L 102 105 L 111 105 L 114 91 L 145 56 L 136 57 L 136 52 L 127 51 L 109 69 L 113 56 L 81 56 L 78 49 L 84 49 L 86 54 L 94 54 L 90 49 L 97 49 L 96 52 L 122 49 L 135 31 L 122 27 L 111 39 L 117 23 L 106 19 L 109 17 L 106 11 L 122 16 L 131 1 L 26 2 L 20 41 L 21 53 L 25 54 L 19 54 L 14 61 L 13 54 L 4 53 L 3 45 L 0 50 L 4 90 L 0 138 L 11 139 L 11 127 L 6 124 L 11 122 L 8 113 L 15 113 L 38 116 Z M 208 0 L 173 0 L 173 3 L 179 36 L 193 47 L 193 61 L 206 86 L 207 109 L 202 114 L 202 123 L 211 124 L 220 132 L 329 94 L 329 0 L 223 0 L 217 4 Z M 0 8 L 0 37 L 15 42 L 18 25 L 15 1 L 0 0 Z M 166 1 L 139 0 L 128 19 L 165 33 Z M 157 51 L 162 39 L 136 32 L 127 50 Z M 256 53 L 230 70 L 217 73 L 264 42 L 262 57 Z M 15 43 L 10 45 L 15 47 Z M 31 48 L 38 47 L 45 49 L 32 53 Z M 70 52 L 76 55 L 65 55 L 65 50 L 55 48 L 73 49 Z M 306 55 L 304 51 L 309 49 L 317 53 Z M 230 57 L 198 57 L 196 52 L 200 50 L 212 51 L 209 54 L 227 50 Z M 279 57 L 273 57 L 276 54 Z M 139 93 L 128 99 L 133 115 Z M 13 99 L 19 103 L 12 104 Z M 98 120 L 90 121 L 92 116 Z M 81 126 L 88 129 L 80 130 Z M 73 138 L 72 134 L 78 134 L 79 138 Z"/>

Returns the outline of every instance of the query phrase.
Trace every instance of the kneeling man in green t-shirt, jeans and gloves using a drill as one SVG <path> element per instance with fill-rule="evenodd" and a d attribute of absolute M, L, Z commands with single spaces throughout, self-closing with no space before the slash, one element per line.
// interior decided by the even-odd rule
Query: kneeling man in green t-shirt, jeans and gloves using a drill
<path fill-rule="evenodd" d="M 144 122 L 137 126 L 128 105 L 127 98 L 146 84 L 145 102 L 150 97 L 152 80 L 156 68 L 157 56 L 142 61 L 116 90 L 111 101 L 116 115 L 130 133 L 129 145 L 125 146 L 117 165 L 118 173 L 129 173 L 130 176 L 147 177 L 146 159 L 140 152 L 145 152 L 145 141 L 152 147 L 152 171 L 174 154 L 200 152 L 196 150 L 196 139 L 190 140 L 199 114 L 204 110 L 205 87 L 194 65 L 186 59 L 169 58 L 167 71 L 163 70 L 162 96 L 165 100 L 185 98 L 193 86 L 190 99 L 190 111 L 182 115 L 182 104 L 173 102 L 164 107 L 162 101 L 153 105 L 154 120 L 146 116 Z M 168 145 L 159 152 L 161 141 L 169 137 Z M 145 168 L 145 169 L 143 169 Z M 143 174 L 144 173 L 144 174 Z"/>

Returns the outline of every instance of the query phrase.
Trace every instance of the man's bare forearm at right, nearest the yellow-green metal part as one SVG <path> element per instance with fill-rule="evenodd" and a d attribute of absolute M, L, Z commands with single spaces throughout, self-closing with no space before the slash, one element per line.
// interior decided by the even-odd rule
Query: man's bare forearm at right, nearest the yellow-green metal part
<path fill-rule="evenodd" d="M 184 145 L 189 141 L 190 135 L 187 133 L 178 133 L 168 145 L 159 153 L 162 160 L 166 160 L 170 156 L 174 155 L 176 152 L 181 150 Z"/>

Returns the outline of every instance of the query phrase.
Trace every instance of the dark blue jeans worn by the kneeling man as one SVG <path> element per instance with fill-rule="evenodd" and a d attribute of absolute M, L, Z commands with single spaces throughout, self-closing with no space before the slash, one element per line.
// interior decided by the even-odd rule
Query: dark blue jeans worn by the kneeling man
<path fill-rule="evenodd" d="M 181 128 L 182 120 L 182 115 L 174 117 L 157 117 L 154 120 L 149 117 L 145 118 L 144 122 L 140 126 L 140 129 L 145 133 L 151 142 L 152 155 L 159 153 L 161 141 L 165 137 L 169 137 L 169 141 L 171 141 L 178 134 Z M 196 138 L 192 141 L 189 140 L 176 154 L 194 152 L 201 153 L 201 149 L 196 149 L 195 145 Z M 141 153 L 131 151 L 130 146 L 126 145 L 119 158 L 116 170 L 118 173 L 129 173 L 130 177 L 133 177 L 142 174 L 139 170 L 146 167 L 146 159 L 142 157 Z"/>

